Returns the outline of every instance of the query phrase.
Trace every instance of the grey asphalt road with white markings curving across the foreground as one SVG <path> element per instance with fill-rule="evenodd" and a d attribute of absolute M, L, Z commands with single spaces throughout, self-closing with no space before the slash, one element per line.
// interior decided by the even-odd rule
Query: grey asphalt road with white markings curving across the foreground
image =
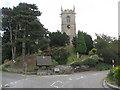
<path fill-rule="evenodd" d="M 22 75 L 2 73 L 2 85 L 9 88 L 103 88 L 108 71 L 88 71 L 68 75 Z"/>

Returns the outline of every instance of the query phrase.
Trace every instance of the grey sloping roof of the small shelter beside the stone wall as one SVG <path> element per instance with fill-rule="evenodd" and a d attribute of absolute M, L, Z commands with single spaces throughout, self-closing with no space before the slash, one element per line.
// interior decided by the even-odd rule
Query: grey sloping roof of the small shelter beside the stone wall
<path fill-rule="evenodd" d="M 37 66 L 50 66 L 52 65 L 51 56 L 37 56 Z"/>

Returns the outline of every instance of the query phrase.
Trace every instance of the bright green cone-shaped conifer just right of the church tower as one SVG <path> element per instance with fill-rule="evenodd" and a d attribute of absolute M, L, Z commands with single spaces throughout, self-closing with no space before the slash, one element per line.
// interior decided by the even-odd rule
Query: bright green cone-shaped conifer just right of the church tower
<path fill-rule="evenodd" d="M 85 40 L 84 40 L 84 35 L 80 31 L 78 31 L 76 51 L 79 52 L 80 54 L 85 54 L 87 51 L 87 47 L 86 47 Z"/>

